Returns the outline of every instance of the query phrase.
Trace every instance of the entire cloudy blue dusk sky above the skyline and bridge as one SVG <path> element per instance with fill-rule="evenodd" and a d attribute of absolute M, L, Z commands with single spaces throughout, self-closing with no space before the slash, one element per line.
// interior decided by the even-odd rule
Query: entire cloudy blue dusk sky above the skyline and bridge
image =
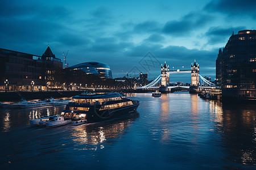
<path fill-rule="evenodd" d="M 200 74 L 214 79 L 218 49 L 232 30 L 256 28 L 255 7 L 255 0 L 1 0 L 0 48 L 42 56 L 49 44 L 57 58 L 69 50 L 69 66 L 104 62 L 114 78 L 136 68 L 154 79 L 159 63 L 190 69 L 196 59 Z M 190 75 L 171 75 L 174 81 L 190 82 Z"/>

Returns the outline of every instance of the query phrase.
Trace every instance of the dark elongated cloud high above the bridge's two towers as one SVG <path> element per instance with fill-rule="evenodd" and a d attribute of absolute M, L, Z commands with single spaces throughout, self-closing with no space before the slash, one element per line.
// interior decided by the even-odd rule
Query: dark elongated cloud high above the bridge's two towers
<path fill-rule="evenodd" d="M 199 14 L 190 12 L 185 15 L 181 20 L 171 20 L 163 27 L 163 33 L 175 36 L 187 36 L 188 33 L 196 31 L 211 22 L 213 17 L 209 14 Z"/>

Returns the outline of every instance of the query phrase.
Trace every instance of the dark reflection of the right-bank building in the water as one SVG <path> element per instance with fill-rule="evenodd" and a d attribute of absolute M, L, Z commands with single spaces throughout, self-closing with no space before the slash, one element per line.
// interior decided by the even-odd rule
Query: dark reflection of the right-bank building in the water
<path fill-rule="evenodd" d="M 255 105 L 226 105 L 223 108 L 224 145 L 232 162 L 256 165 Z"/>

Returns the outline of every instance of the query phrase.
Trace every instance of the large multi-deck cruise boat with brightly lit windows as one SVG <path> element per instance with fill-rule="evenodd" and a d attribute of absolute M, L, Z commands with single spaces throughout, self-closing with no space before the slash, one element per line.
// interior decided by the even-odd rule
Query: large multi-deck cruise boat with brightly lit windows
<path fill-rule="evenodd" d="M 73 96 L 60 115 L 72 119 L 73 125 L 80 125 L 136 112 L 138 106 L 138 100 L 127 99 L 117 92 L 100 94 L 87 92 Z"/>

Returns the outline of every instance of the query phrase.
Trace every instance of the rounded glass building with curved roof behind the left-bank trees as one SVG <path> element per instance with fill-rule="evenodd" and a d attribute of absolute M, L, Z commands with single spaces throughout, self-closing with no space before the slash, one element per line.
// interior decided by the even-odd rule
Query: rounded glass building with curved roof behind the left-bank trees
<path fill-rule="evenodd" d="M 112 79 L 112 71 L 109 65 L 102 62 L 84 62 L 69 67 L 72 70 L 82 70 L 86 74 L 98 74 L 102 79 Z"/>

